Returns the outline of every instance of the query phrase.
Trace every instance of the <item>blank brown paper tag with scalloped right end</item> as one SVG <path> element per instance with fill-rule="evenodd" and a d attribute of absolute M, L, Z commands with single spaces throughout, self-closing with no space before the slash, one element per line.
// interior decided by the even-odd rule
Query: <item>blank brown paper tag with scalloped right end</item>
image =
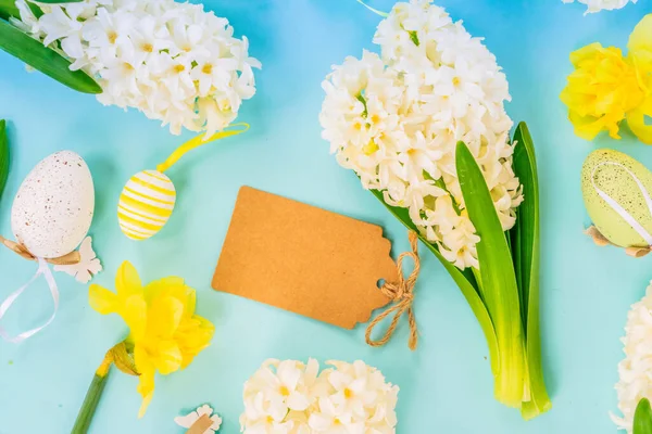
<path fill-rule="evenodd" d="M 242 187 L 213 289 L 352 329 L 389 303 L 390 250 L 379 226 Z"/>

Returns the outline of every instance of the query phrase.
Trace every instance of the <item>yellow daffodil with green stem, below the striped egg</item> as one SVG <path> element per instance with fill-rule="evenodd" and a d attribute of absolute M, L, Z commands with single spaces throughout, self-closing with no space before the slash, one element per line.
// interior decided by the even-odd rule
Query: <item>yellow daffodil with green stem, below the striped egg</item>
<path fill-rule="evenodd" d="M 209 346 L 215 329 L 210 321 L 195 315 L 195 290 L 180 278 L 164 278 L 143 286 L 134 266 L 125 261 L 115 277 L 115 290 L 112 292 L 97 284 L 89 289 L 93 309 L 102 315 L 120 315 L 129 328 L 125 342 L 106 354 L 93 384 L 96 381 L 102 384 L 112 363 L 137 374 L 140 380 L 138 393 L 142 396 L 138 417 L 142 417 L 154 393 L 155 373 L 167 375 L 186 368 Z M 92 395 L 93 384 L 86 400 Z M 98 396 L 93 397 L 91 408 L 85 410 L 88 407 L 85 401 L 79 413 L 86 427 L 102 387 L 98 390 L 92 392 Z"/>

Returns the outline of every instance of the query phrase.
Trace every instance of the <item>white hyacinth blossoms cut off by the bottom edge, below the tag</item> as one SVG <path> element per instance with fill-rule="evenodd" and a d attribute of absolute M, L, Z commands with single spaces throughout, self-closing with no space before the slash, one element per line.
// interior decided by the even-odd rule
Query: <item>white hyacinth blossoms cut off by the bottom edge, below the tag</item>
<path fill-rule="evenodd" d="M 399 387 L 363 361 L 267 360 L 244 384 L 246 434 L 391 434 Z"/>

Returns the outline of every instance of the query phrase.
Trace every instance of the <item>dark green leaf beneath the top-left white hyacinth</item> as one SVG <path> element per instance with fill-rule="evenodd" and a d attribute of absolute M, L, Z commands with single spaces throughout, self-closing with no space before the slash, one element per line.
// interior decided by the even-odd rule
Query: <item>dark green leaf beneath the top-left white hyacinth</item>
<path fill-rule="evenodd" d="M 57 81 L 84 93 L 101 93 L 102 88 L 83 71 L 71 71 L 71 62 L 55 51 L 0 20 L 0 49 Z"/>

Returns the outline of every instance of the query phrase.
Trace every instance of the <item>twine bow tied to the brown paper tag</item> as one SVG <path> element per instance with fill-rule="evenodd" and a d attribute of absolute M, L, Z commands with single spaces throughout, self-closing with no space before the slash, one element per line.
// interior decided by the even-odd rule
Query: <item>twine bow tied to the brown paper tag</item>
<path fill-rule="evenodd" d="M 416 344 L 418 341 L 417 336 L 417 328 L 416 328 L 416 319 L 414 318 L 414 310 L 412 308 L 412 303 L 414 301 L 414 285 L 416 283 L 416 279 L 418 278 L 418 271 L 421 269 L 421 263 L 418 258 L 418 239 L 416 232 L 410 231 L 408 234 L 410 239 L 410 246 L 412 247 L 412 252 L 403 252 L 399 256 L 399 260 L 397 261 L 397 268 L 399 270 L 399 281 L 396 283 L 385 282 L 380 291 L 383 294 L 388 296 L 393 304 L 385 310 L 383 314 L 378 315 L 367 327 L 365 339 L 366 343 L 371 346 L 383 346 L 389 342 L 393 332 L 399 324 L 399 319 L 408 312 L 408 321 L 410 322 L 410 340 L 408 341 L 408 346 L 410 349 L 415 350 Z M 403 276 L 403 259 L 405 257 L 411 257 L 414 260 L 414 269 L 408 277 L 408 279 Z M 385 318 L 389 317 L 391 314 L 394 314 L 389 328 L 385 332 L 385 335 L 374 341 L 372 339 L 372 332 L 374 328 L 378 326 Z"/>

